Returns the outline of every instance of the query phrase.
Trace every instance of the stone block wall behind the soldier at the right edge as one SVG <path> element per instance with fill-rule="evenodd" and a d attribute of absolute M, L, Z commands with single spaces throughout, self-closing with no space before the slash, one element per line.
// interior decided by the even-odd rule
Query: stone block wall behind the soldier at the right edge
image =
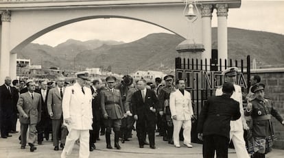
<path fill-rule="evenodd" d="M 284 118 L 284 68 L 251 70 L 250 74 L 261 77 L 261 83 L 265 83 L 265 96 L 272 99 L 274 106 Z M 275 118 L 272 118 L 272 122 L 277 138 L 273 147 L 284 150 L 284 126 Z"/>

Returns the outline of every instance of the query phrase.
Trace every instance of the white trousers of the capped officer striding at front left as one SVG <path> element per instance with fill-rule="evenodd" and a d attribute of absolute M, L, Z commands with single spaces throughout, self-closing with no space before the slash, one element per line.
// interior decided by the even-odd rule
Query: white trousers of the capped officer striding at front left
<path fill-rule="evenodd" d="M 75 141 L 78 140 L 78 138 L 80 138 L 79 158 L 88 158 L 88 156 L 90 155 L 90 149 L 88 143 L 89 137 L 90 137 L 89 130 L 71 129 L 66 137 L 66 142 L 62 150 L 61 158 L 65 158 L 66 155 L 71 154 Z"/>

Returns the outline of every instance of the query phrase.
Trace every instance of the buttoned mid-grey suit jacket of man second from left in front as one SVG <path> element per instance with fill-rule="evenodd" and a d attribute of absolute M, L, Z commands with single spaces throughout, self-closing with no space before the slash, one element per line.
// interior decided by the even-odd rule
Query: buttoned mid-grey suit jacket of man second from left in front
<path fill-rule="evenodd" d="M 19 120 L 23 124 L 37 124 L 41 118 L 41 99 L 40 94 L 34 92 L 34 99 L 25 92 L 20 95 L 19 101 L 16 105 L 19 110 Z M 28 118 L 23 118 L 27 114 Z"/>

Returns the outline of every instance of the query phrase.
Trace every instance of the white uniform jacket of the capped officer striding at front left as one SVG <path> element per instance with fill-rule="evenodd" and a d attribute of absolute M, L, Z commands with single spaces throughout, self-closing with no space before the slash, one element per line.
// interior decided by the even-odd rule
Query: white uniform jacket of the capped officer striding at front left
<path fill-rule="evenodd" d="M 71 118 L 68 129 L 88 130 L 92 129 L 92 92 L 90 88 L 82 87 L 78 83 L 65 89 L 62 99 L 63 118 Z"/>

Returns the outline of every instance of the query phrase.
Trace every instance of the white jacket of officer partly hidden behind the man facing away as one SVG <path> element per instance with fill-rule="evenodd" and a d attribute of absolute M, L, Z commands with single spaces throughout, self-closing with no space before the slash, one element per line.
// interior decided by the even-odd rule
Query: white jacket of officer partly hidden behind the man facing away
<path fill-rule="evenodd" d="M 230 98 L 233 98 L 235 101 L 239 102 L 239 111 L 241 112 L 241 118 L 238 120 L 230 121 L 230 131 L 243 131 L 243 122 L 246 122 L 244 118 L 244 107 L 243 107 L 243 97 L 241 94 L 241 86 L 234 84 L 235 92 Z M 215 96 L 221 96 L 223 94 L 222 87 L 217 88 Z"/>

